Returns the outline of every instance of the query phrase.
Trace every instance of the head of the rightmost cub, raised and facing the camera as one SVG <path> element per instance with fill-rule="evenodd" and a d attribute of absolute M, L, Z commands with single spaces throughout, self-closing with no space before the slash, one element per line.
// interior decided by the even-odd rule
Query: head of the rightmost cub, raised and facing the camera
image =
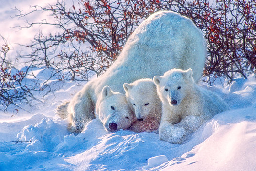
<path fill-rule="evenodd" d="M 154 83 L 157 85 L 157 93 L 161 101 L 170 106 L 179 105 L 194 84 L 192 69 L 181 70 L 171 69 L 163 76 L 154 76 Z"/>

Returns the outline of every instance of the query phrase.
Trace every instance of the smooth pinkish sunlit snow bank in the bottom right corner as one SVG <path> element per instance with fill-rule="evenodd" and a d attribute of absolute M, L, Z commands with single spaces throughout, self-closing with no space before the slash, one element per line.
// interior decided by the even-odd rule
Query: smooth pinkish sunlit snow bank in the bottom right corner
<path fill-rule="evenodd" d="M 151 170 L 256 170 L 256 107 L 218 114 L 195 133 L 194 137 L 205 133 L 210 133 L 210 136 L 190 152 Z"/>

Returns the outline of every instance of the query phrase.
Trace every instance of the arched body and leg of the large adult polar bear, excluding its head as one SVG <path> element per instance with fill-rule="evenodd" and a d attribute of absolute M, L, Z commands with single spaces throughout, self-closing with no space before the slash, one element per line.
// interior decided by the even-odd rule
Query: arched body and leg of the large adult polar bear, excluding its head
<path fill-rule="evenodd" d="M 198 81 L 205 57 L 203 34 L 190 19 L 171 11 L 157 12 L 135 29 L 113 65 L 89 81 L 69 103 L 61 104 L 57 114 L 68 115 L 69 129 L 80 132 L 95 118 L 96 102 L 105 85 L 124 93 L 123 83 L 163 75 L 172 68 L 192 68 Z"/>

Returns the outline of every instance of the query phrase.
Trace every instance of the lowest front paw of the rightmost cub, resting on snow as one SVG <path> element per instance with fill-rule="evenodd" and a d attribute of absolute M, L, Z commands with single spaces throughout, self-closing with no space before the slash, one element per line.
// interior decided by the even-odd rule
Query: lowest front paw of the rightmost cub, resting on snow
<path fill-rule="evenodd" d="M 173 144 L 181 144 L 185 140 L 186 131 L 183 127 L 176 127 L 170 123 L 165 123 L 159 128 L 159 137 Z"/>

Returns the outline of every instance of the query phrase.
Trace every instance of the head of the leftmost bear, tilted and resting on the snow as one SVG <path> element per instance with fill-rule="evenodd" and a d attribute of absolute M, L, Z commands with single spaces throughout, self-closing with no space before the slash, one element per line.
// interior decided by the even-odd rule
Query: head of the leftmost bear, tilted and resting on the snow
<path fill-rule="evenodd" d="M 128 129 L 135 120 L 125 95 L 111 91 L 109 86 L 102 89 L 96 103 L 96 114 L 108 132 Z"/>

